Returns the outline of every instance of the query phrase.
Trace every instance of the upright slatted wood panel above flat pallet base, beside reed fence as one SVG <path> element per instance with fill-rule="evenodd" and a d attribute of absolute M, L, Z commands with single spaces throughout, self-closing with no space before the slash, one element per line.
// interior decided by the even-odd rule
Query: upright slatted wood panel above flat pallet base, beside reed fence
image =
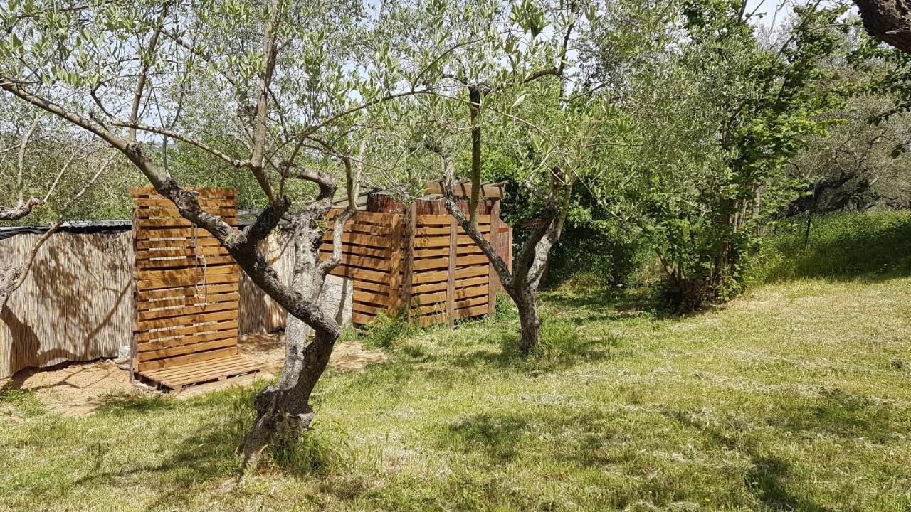
<path fill-rule="evenodd" d="M 237 224 L 236 191 L 193 189 L 200 206 Z M 240 271 L 209 231 L 151 187 L 135 187 L 134 368 L 139 372 L 237 354 Z M 204 260 L 203 260 L 204 258 Z"/>

